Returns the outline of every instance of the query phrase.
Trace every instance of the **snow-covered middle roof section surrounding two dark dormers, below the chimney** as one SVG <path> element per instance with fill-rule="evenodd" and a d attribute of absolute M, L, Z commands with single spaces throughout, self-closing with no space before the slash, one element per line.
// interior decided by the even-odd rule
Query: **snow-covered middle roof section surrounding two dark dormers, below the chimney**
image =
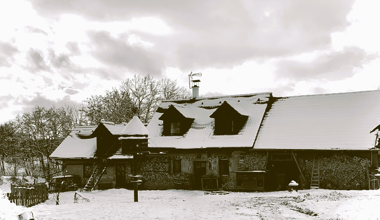
<path fill-rule="evenodd" d="M 195 100 L 165 100 L 147 126 L 151 139 L 149 147 L 177 149 L 252 147 L 271 95 L 272 93 L 256 93 Z M 245 125 L 236 135 L 214 135 L 214 119 L 210 116 L 224 101 L 248 116 Z M 170 105 L 176 107 L 185 117 L 194 118 L 193 124 L 184 135 L 162 136 L 163 121 L 159 118 Z"/>

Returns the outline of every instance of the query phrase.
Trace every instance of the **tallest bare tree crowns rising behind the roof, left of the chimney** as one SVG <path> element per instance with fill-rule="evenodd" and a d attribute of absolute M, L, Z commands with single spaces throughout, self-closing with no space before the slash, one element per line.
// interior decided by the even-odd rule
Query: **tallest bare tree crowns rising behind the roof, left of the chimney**
<path fill-rule="evenodd" d="M 143 123 L 148 123 L 162 99 L 189 97 L 189 90 L 178 86 L 176 80 L 154 80 L 150 75 L 134 75 L 123 80 L 119 89 L 113 88 L 105 95 L 88 98 L 83 111 L 92 124 L 100 121 L 129 122 L 135 115 Z"/>

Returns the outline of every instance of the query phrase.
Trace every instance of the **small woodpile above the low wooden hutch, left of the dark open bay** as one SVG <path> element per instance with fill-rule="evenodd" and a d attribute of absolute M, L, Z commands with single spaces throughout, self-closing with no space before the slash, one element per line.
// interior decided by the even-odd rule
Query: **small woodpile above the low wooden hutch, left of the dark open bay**
<path fill-rule="evenodd" d="M 241 156 L 238 169 L 239 171 L 264 170 L 266 161 L 267 154 L 249 153 Z"/>

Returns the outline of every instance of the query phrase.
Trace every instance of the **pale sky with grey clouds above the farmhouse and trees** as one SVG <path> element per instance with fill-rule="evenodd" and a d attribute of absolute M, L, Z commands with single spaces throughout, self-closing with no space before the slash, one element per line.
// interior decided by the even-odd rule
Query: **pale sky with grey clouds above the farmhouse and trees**
<path fill-rule="evenodd" d="M 80 103 L 134 74 L 205 96 L 375 90 L 380 13 L 368 1 L 12 0 L 0 3 L 0 123 Z"/>

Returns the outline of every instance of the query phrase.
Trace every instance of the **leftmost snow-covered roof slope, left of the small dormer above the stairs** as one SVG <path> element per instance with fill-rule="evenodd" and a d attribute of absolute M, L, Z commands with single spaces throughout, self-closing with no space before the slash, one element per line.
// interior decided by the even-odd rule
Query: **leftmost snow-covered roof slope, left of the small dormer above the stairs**
<path fill-rule="evenodd" d="M 96 126 L 79 126 L 75 128 L 59 144 L 57 149 L 50 155 L 50 158 L 93 158 L 96 151 L 96 137 L 81 139 L 80 134 L 91 135 L 95 128 Z"/>

